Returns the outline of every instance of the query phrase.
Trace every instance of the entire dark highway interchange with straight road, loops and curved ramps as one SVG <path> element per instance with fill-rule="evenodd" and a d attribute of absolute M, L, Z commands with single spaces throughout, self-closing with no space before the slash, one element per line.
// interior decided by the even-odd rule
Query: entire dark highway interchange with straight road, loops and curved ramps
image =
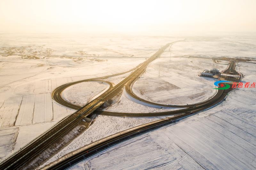
<path fill-rule="evenodd" d="M 175 43 L 175 42 L 173 42 Z M 226 90 L 217 90 L 217 93 L 214 97 L 210 98 L 207 101 L 197 103 L 197 104 L 191 104 L 191 105 L 166 105 L 166 104 L 157 104 L 154 102 L 149 102 L 143 99 L 140 99 L 135 94 L 133 94 L 131 88 L 132 84 L 145 72 L 145 69 L 156 58 L 158 58 L 164 50 L 169 47 L 173 43 L 168 43 L 165 46 L 163 46 L 161 49 L 159 49 L 156 53 L 154 53 L 150 58 L 148 58 L 145 62 L 141 63 L 137 67 L 135 67 L 132 70 L 129 70 L 124 73 L 132 72 L 130 75 L 128 75 L 126 78 L 124 78 L 122 81 L 120 81 L 115 86 L 112 85 L 112 83 L 105 81 L 109 84 L 109 88 L 107 91 L 105 91 L 103 94 L 101 94 L 99 97 L 92 100 L 90 103 L 86 104 L 84 107 L 77 106 L 75 104 L 69 103 L 66 100 L 64 100 L 61 97 L 61 93 L 64 89 L 67 87 L 74 85 L 76 83 L 84 82 L 84 81 L 100 81 L 102 79 L 106 79 L 108 77 L 113 77 L 117 75 L 121 75 L 124 73 L 115 74 L 112 76 L 105 76 L 95 79 L 87 79 L 82 81 L 76 81 L 71 82 L 68 84 L 64 84 L 58 88 L 56 88 L 52 92 L 52 98 L 69 108 L 77 109 L 77 111 L 70 116 L 64 118 L 61 120 L 58 124 L 56 124 L 54 127 L 49 129 L 47 132 L 45 132 L 43 135 L 38 137 L 37 139 L 33 140 L 31 143 L 29 143 L 27 146 L 22 148 L 20 151 L 13 154 L 11 157 L 6 159 L 4 162 L 0 164 L 0 169 L 19 169 L 21 167 L 26 167 L 26 162 L 28 160 L 35 158 L 38 153 L 42 150 L 44 150 L 48 145 L 56 141 L 61 135 L 63 135 L 65 132 L 76 126 L 78 122 L 84 119 L 84 117 L 87 117 L 92 112 L 97 114 L 104 114 L 104 115 L 111 115 L 111 116 L 137 116 L 137 117 L 149 117 L 149 116 L 168 116 L 168 115 L 176 115 L 169 119 L 162 119 L 161 121 L 155 121 L 151 122 L 150 124 L 144 124 L 139 127 L 135 127 L 134 129 L 128 129 L 126 131 L 123 131 L 119 135 L 111 135 L 108 139 L 97 141 L 95 144 L 91 144 L 86 149 L 80 149 L 76 152 L 72 152 L 68 155 L 66 158 L 61 158 L 52 164 L 49 164 L 44 169 L 65 169 L 67 167 L 70 167 L 77 163 L 78 161 L 81 161 L 84 158 L 88 158 L 89 156 L 92 156 L 93 154 L 102 151 L 103 149 L 106 149 L 107 147 L 110 147 L 116 143 L 122 142 L 124 140 L 127 140 L 133 136 L 140 135 L 141 133 L 145 133 L 149 130 L 164 126 L 166 124 L 172 123 L 174 121 L 177 121 L 181 118 L 187 117 L 189 115 L 195 114 L 197 112 L 203 111 L 205 109 L 208 109 L 221 101 L 227 96 L 228 92 L 231 91 L 231 89 Z M 232 72 L 235 73 L 233 70 L 235 68 L 235 62 L 232 63 L 229 66 L 229 69 L 232 70 Z M 180 107 L 182 109 L 180 110 L 174 110 L 174 111 L 168 111 L 168 112 L 154 112 L 154 113 L 120 113 L 120 112 L 104 112 L 100 110 L 96 110 L 102 105 L 104 102 L 106 102 L 108 99 L 113 98 L 116 96 L 120 90 L 122 90 L 125 87 L 128 94 L 130 94 L 132 97 L 135 97 L 137 99 L 142 100 L 143 102 L 154 104 L 154 105 L 160 105 L 164 107 Z M 185 107 L 185 108 L 184 108 Z M 88 148 L 89 147 L 89 148 Z"/>

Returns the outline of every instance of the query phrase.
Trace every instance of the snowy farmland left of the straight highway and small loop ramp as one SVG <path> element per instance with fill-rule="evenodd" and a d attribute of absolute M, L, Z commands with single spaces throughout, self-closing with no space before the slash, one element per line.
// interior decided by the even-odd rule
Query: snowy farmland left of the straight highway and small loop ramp
<path fill-rule="evenodd" d="M 3 56 L 0 57 L 0 133 L 6 128 L 17 127 L 17 139 L 12 144 L 5 145 L 6 151 L 1 151 L 1 154 L 3 153 L 0 155 L 1 158 L 19 150 L 59 120 L 74 112 L 52 101 L 53 89 L 68 82 L 128 71 L 143 62 L 144 56 L 174 40 L 159 38 L 157 41 L 159 44 L 154 48 L 151 48 L 154 43 L 151 45 L 148 43 L 141 44 L 141 48 L 136 46 L 135 49 L 134 46 L 126 46 L 133 41 L 130 39 L 120 44 L 119 49 L 115 49 L 117 51 L 111 52 L 109 47 L 113 42 L 109 38 L 102 38 L 100 43 L 100 38 L 87 37 L 86 40 L 76 39 L 77 42 L 74 43 L 71 37 L 70 41 L 65 43 L 58 37 L 24 37 L 4 34 L 0 39 L 0 55 Z M 94 45 L 88 43 L 88 39 L 91 38 Z M 47 43 L 47 39 L 52 41 Z M 115 48 L 117 43 L 125 42 L 119 38 L 115 41 L 115 45 L 112 45 Z M 91 48 L 93 46 L 98 48 Z M 101 50 L 102 55 L 93 52 L 101 48 L 108 50 Z M 131 48 L 135 50 L 132 51 Z M 89 49 L 91 51 L 88 51 Z M 120 49 L 123 49 L 122 54 L 119 53 Z M 123 55 L 125 51 L 131 53 Z M 136 59 L 131 59 L 132 55 Z M 122 76 L 119 79 L 121 80 Z M 33 129 L 33 132 L 28 128 Z"/>

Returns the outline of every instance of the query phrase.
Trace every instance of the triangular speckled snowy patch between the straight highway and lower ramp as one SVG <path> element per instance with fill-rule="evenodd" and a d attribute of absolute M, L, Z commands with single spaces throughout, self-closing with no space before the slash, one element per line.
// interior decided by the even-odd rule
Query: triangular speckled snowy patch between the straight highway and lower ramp
<path fill-rule="evenodd" d="M 52 161 L 68 154 L 71 151 L 75 151 L 89 143 L 100 140 L 109 135 L 121 132 L 123 130 L 145 124 L 151 121 L 158 120 L 159 118 L 130 118 L 130 117 L 113 117 L 98 115 L 92 125 L 86 129 L 81 135 L 79 135 L 75 140 L 68 144 L 65 148 L 59 151 L 56 155 L 45 162 L 43 167 Z"/>

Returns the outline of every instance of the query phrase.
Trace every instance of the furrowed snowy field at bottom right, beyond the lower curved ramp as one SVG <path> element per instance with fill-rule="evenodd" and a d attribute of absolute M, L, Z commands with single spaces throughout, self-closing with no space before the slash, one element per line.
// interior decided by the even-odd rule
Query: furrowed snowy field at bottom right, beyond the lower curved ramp
<path fill-rule="evenodd" d="M 239 63 L 244 82 L 256 64 Z M 256 89 L 231 92 L 218 106 L 117 144 L 70 169 L 255 169 Z"/>

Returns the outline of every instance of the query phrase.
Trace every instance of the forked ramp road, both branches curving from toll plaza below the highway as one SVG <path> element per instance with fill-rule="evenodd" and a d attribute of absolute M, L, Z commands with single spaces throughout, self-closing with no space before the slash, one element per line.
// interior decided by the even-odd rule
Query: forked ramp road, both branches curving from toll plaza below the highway
<path fill-rule="evenodd" d="M 45 166 L 43 169 L 66 169 L 68 167 L 71 167 L 78 163 L 79 161 L 88 158 L 108 147 L 111 147 L 117 143 L 123 142 L 127 139 L 130 139 L 134 136 L 146 133 L 148 131 L 151 131 L 153 129 L 168 125 L 170 123 L 173 123 L 179 119 L 185 118 L 189 115 L 192 115 L 194 113 L 197 113 L 199 111 L 202 111 L 204 109 L 207 109 L 215 104 L 218 104 L 220 101 L 222 101 L 227 93 L 231 91 L 230 89 L 227 90 L 219 90 L 221 93 L 216 95 L 214 99 L 212 99 L 211 102 L 208 104 L 203 104 L 198 107 L 194 108 L 188 108 L 186 111 L 170 111 L 170 112 L 157 112 L 157 113 L 141 113 L 140 115 L 136 113 L 128 113 L 129 116 L 131 114 L 135 114 L 133 116 L 143 116 L 146 114 L 147 116 L 163 116 L 163 115 L 172 115 L 172 114 L 178 114 L 177 116 L 174 116 L 172 118 L 168 119 L 162 119 L 157 120 L 154 122 L 146 123 L 144 125 L 140 125 L 131 129 L 124 130 L 122 132 L 116 133 L 114 135 L 110 135 L 106 138 L 103 138 L 99 141 L 93 142 L 89 145 L 86 145 L 82 148 L 77 149 L 76 151 L 73 151 L 69 153 L 68 155 L 65 155 L 64 157 L 52 162 L 51 164 Z M 97 111 L 96 111 L 97 112 Z M 98 112 L 98 113 L 105 113 L 107 115 L 114 115 L 114 116 L 126 116 L 127 113 L 116 113 L 116 112 Z"/>

